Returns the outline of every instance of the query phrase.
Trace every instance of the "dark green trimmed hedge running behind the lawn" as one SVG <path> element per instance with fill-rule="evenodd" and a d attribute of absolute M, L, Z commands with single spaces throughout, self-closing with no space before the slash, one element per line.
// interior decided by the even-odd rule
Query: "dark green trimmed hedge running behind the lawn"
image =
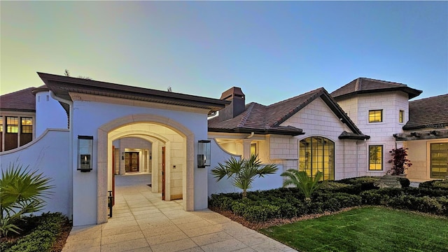
<path fill-rule="evenodd" d="M 209 206 L 232 211 L 253 222 L 321 214 L 363 205 L 384 205 L 448 216 L 448 190 L 442 189 L 446 181 L 428 181 L 419 188 L 412 188 L 408 179 L 400 179 L 402 188 L 378 189 L 373 186 L 378 179 L 360 177 L 328 181 L 311 195 L 311 202 L 304 200 L 298 188 L 279 188 L 248 192 L 245 200 L 241 200 L 241 193 L 211 195 Z"/>

